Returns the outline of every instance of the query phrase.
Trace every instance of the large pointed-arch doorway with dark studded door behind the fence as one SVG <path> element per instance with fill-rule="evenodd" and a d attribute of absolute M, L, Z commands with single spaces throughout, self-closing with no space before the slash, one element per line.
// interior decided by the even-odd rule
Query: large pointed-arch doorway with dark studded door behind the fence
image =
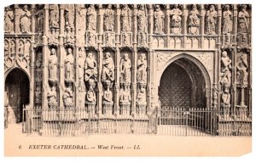
<path fill-rule="evenodd" d="M 206 81 L 189 59 L 177 59 L 161 75 L 159 98 L 162 107 L 206 107 Z"/>

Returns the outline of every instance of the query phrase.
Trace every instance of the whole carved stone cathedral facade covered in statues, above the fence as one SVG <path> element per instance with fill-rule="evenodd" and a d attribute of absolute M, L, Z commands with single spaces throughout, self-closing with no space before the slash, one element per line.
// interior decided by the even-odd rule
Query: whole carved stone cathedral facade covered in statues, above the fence
<path fill-rule="evenodd" d="M 44 109 L 150 115 L 164 70 L 189 59 L 205 107 L 251 110 L 251 26 L 248 4 L 15 4 L 4 13 L 5 77 L 23 70 L 30 104 Z"/>

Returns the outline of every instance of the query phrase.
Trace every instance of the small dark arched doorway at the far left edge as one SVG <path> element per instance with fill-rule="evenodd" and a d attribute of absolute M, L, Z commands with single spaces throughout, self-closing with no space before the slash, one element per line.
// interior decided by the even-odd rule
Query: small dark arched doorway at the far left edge
<path fill-rule="evenodd" d="M 9 106 L 14 109 L 16 122 L 23 120 L 23 106 L 29 104 L 29 85 L 26 73 L 18 68 L 6 76 L 4 90 Z"/>

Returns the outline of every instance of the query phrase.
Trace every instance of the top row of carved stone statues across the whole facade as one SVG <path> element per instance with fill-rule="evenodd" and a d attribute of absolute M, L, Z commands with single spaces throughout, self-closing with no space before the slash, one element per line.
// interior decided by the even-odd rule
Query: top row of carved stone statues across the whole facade
<path fill-rule="evenodd" d="M 86 14 L 84 9 L 81 7 L 77 8 L 79 14 L 79 20 L 77 20 L 77 25 L 79 28 L 83 28 L 84 17 L 86 15 L 86 30 L 87 31 L 96 31 L 97 27 L 97 11 L 95 5 L 91 4 L 87 8 Z M 121 31 L 132 31 L 132 17 L 131 17 L 131 8 L 125 4 L 121 8 Z M 171 32 L 173 34 L 180 34 L 182 32 L 182 15 L 183 12 L 179 5 L 173 5 L 173 8 L 170 11 L 171 16 Z M 44 10 L 39 9 L 37 14 L 37 29 L 38 31 L 43 31 L 44 28 Z M 160 8 L 160 5 L 154 6 L 154 34 L 164 34 L 165 33 L 165 19 L 166 15 Z M 31 11 L 25 5 L 22 9 L 19 10 L 19 19 L 20 19 L 20 32 L 29 33 L 31 32 Z M 218 11 L 216 10 L 215 5 L 210 5 L 207 9 L 205 15 L 205 29 L 206 34 L 215 35 L 217 31 L 217 21 L 218 21 Z M 222 31 L 224 34 L 232 32 L 232 23 L 233 23 L 233 13 L 230 11 L 230 5 L 224 6 L 224 12 L 222 14 Z M 75 24 L 75 7 L 73 4 L 66 4 L 64 8 L 64 18 L 65 18 L 65 28 L 67 30 L 74 31 Z M 104 9 L 103 14 L 103 29 L 104 31 L 114 31 L 114 20 L 115 20 L 115 11 L 113 10 L 113 5 L 108 4 L 108 7 Z M 238 32 L 247 33 L 249 31 L 250 25 L 250 15 L 247 12 L 247 5 L 241 5 L 241 9 L 238 13 Z M 199 34 L 199 28 L 201 21 L 201 14 L 198 10 L 197 5 L 193 5 L 189 10 L 188 15 L 188 33 L 189 34 Z M 14 22 L 15 14 L 14 10 L 10 7 L 5 8 L 4 14 L 5 22 L 5 32 L 14 32 Z M 203 26 L 202 26 L 203 27 Z M 49 28 L 57 29 L 59 28 L 59 7 L 57 4 L 49 5 Z M 81 29 L 79 29 L 80 31 Z M 145 5 L 139 5 L 137 9 L 137 31 L 138 32 L 148 32 L 148 9 Z"/>

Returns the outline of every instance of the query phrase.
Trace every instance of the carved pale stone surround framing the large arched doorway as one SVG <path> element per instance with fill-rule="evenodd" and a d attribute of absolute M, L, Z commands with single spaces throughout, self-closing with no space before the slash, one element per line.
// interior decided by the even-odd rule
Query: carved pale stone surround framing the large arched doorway
<path fill-rule="evenodd" d="M 210 107 L 211 105 L 211 94 L 212 94 L 212 88 L 211 88 L 211 82 L 212 78 L 209 72 L 212 71 L 212 64 L 209 62 L 212 59 L 208 58 L 210 55 L 206 55 L 206 57 L 201 57 L 199 54 L 188 54 L 188 53 L 157 53 L 157 71 L 156 71 L 156 78 L 155 83 L 156 87 L 160 87 L 160 79 L 163 75 L 166 68 L 172 64 L 174 61 L 178 59 L 188 59 L 192 63 L 194 63 L 199 70 L 201 70 L 201 73 L 204 77 L 204 80 L 206 82 L 206 97 L 207 97 L 207 107 Z M 195 58 L 196 57 L 196 58 Z M 213 57 L 213 53 L 212 53 Z M 158 89 L 158 88 L 157 88 Z M 157 92 L 158 94 L 158 92 Z"/>

